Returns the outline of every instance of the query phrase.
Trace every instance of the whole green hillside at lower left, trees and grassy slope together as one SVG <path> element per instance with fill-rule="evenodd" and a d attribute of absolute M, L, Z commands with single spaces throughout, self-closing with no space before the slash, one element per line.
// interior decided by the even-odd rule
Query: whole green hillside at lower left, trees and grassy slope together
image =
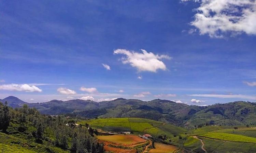
<path fill-rule="evenodd" d="M 1 151 L 102 153 L 93 134 L 69 117 L 41 115 L 26 104 L 12 109 L 0 103 Z"/>

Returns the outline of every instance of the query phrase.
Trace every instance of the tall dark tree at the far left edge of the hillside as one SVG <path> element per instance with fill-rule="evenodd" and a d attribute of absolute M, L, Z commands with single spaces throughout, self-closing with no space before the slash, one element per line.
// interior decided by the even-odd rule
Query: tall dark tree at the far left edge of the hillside
<path fill-rule="evenodd" d="M 7 102 L 5 102 L 5 105 L 0 108 L 0 130 L 3 132 L 6 132 L 8 126 L 10 125 L 10 112 L 9 107 L 7 106 Z"/>

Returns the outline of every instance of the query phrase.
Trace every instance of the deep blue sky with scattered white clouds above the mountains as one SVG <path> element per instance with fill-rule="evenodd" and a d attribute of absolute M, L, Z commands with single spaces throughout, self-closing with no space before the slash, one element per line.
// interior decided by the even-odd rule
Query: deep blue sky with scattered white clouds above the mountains
<path fill-rule="evenodd" d="M 256 2 L 204 1 L 1 1 L 0 98 L 256 101 Z"/>

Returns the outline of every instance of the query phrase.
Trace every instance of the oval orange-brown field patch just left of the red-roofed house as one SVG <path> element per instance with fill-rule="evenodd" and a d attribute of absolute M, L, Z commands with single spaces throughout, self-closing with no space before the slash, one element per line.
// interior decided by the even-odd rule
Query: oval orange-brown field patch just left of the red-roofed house
<path fill-rule="evenodd" d="M 119 144 L 128 144 L 135 145 L 138 143 L 146 142 L 145 139 L 142 139 L 135 135 L 111 135 L 111 136 L 98 136 L 99 140 L 110 141 Z"/>

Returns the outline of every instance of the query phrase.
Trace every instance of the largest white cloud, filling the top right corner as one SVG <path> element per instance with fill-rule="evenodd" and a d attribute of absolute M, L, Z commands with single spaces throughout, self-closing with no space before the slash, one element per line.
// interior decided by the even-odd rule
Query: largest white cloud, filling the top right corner
<path fill-rule="evenodd" d="M 183 2 L 189 0 L 182 0 Z M 256 34 L 256 1 L 255 0 L 195 0 L 201 5 L 196 9 L 192 26 L 200 34 L 210 37 L 223 37 L 246 33 Z"/>

